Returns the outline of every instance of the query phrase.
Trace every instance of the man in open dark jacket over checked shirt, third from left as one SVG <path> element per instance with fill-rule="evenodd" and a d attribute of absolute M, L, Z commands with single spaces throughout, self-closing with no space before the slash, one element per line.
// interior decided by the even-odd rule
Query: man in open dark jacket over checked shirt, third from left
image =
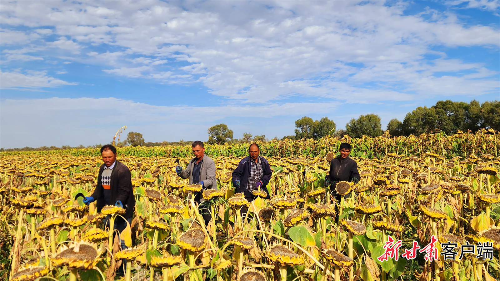
<path fill-rule="evenodd" d="M 235 193 L 243 193 L 248 202 L 255 199 L 253 190 L 263 190 L 270 198 L 269 191 L 265 187 L 269 183 L 272 170 L 269 162 L 259 156 L 260 147 L 257 143 L 250 144 L 248 149 L 250 155 L 239 161 L 238 166 L 232 172 L 232 184 L 236 187 Z M 246 208 L 241 208 L 241 214 L 246 214 Z"/>

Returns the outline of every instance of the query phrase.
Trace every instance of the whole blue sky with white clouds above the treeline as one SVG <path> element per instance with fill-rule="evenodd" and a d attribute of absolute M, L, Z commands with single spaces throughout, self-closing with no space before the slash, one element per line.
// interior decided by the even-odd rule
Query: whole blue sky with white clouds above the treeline
<path fill-rule="evenodd" d="M 0 146 L 207 140 L 226 123 L 382 128 L 437 100 L 500 98 L 499 0 L 0 1 Z"/>

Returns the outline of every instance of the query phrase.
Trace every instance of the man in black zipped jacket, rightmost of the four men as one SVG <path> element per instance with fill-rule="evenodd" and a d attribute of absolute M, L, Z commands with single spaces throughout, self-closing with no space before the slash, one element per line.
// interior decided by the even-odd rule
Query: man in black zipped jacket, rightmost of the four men
<path fill-rule="evenodd" d="M 335 196 L 337 202 L 340 202 L 340 195 L 335 192 L 337 182 L 343 180 L 357 183 L 361 178 L 359 176 L 359 172 L 357 171 L 356 161 L 349 158 L 350 149 L 351 146 L 349 143 L 340 143 L 340 155 L 331 159 L 330 173 L 324 177 L 324 186 L 330 186 L 330 190 L 332 190 L 331 194 Z M 344 195 L 344 198 L 348 198 L 349 196 L 350 193 Z"/>

